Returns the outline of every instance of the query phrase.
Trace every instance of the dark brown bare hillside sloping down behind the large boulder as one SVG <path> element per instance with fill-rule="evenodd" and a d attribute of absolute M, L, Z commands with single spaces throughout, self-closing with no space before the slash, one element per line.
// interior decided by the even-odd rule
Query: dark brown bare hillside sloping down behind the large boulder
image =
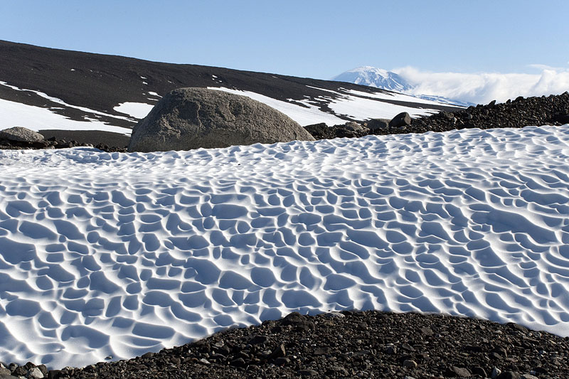
<path fill-rule="evenodd" d="M 215 76 L 215 78 L 214 78 Z M 179 87 L 228 87 L 256 92 L 277 100 L 314 100 L 317 97 L 334 99 L 341 95 L 325 90 L 366 93 L 393 93 L 377 88 L 346 82 L 295 78 L 292 76 L 231 70 L 202 65 L 157 63 L 117 55 L 81 53 L 77 51 L 41 48 L 0 41 L 0 81 L 27 90 L 44 92 L 70 105 L 86 107 L 114 116 L 128 116 L 113 110 L 122 102 L 155 102 L 159 97 Z M 318 87 L 324 90 L 319 90 Z M 0 85 L 0 98 L 40 107 L 62 107 L 44 97 Z M 378 99 L 373 99 L 378 100 Z M 378 100 L 408 107 L 425 108 L 425 104 Z M 302 106 L 302 104 L 299 104 Z M 320 109 L 331 112 L 325 102 Z M 432 110 L 453 110 L 456 107 L 429 105 Z M 84 110 L 63 107 L 60 114 L 77 120 L 96 117 L 121 127 L 132 127 L 136 120 L 118 120 Z M 341 116 L 339 116 L 341 117 Z M 341 117 L 349 119 L 349 117 Z"/>

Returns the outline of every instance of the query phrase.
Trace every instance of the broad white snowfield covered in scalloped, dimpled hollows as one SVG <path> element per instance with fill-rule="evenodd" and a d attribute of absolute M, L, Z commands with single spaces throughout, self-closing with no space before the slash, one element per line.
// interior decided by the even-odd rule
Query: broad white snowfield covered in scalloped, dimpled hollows
<path fill-rule="evenodd" d="M 569 336 L 569 125 L 0 151 L 0 360 L 129 358 L 291 311 Z"/>

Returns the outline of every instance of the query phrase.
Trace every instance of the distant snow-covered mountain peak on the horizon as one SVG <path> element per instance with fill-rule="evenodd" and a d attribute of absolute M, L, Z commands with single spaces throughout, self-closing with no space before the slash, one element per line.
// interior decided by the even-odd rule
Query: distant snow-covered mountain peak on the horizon
<path fill-rule="evenodd" d="M 412 85 L 405 80 L 402 76 L 392 73 L 383 68 L 376 68 L 373 66 L 361 66 L 353 68 L 345 73 L 332 78 L 339 82 L 349 82 L 358 85 L 367 85 L 368 87 L 381 88 L 382 90 L 389 90 L 395 92 L 403 92 L 406 95 L 418 97 L 422 100 L 430 100 L 433 102 L 440 102 L 448 105 L 458 105 L 460 107 L 469 107 L 472 102 L 464 102 L 462 100 L 448 99 L 447 97 L 437 95 L 417 95 L 415 90 L 416 85 Z"/>

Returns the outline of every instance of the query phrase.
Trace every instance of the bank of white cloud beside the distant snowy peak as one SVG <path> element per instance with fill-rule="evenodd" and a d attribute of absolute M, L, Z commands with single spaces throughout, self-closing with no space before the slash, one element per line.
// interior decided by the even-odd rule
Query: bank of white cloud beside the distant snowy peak
<path fill-rule="evenodd" d="M 415 95 L 437 95 L 450 99 L 486 104 L 504 102 L 518 96 L 558 95 L 569 90 L 569 70 L 531 65 L 538 74 L 430 73 L 413 67 L 393 70 L 416 87 Z"/>

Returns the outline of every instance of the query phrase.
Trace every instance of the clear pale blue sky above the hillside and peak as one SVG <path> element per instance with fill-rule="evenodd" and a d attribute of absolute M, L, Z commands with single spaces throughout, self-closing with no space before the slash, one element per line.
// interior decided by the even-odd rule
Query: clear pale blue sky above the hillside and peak
<path fill-rule="evenodd" d="M 569 67 L 569 1 L 0 0 L 0 39 L 328 79 Z"/>

